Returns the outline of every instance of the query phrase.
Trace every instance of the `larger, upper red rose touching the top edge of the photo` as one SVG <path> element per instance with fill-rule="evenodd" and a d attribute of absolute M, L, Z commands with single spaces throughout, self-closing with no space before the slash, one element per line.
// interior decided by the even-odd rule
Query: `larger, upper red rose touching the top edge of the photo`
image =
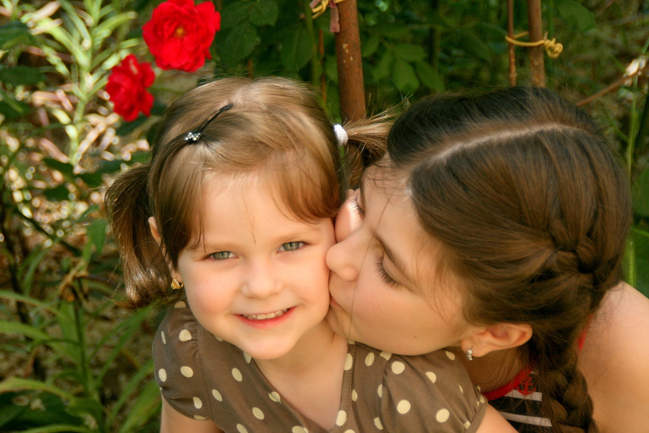
<path fill-rule="evenodd" d="M 167 0 L 153 10 L 142 36 L 162 69 L 194 72 L 211 59 L 214 34 L 221 29 L 221 14 L 206 1 Z"/>

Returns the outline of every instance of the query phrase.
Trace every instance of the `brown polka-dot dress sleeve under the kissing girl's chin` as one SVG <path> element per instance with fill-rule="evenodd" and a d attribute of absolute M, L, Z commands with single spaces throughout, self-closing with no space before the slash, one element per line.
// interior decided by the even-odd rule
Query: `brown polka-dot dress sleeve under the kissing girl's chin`
<path fill-rule="evenodd" d="M 446 350 L 392 356 L 379 395 L 387 431 L 475 432 L 487 410 L 487 399 Z"/>

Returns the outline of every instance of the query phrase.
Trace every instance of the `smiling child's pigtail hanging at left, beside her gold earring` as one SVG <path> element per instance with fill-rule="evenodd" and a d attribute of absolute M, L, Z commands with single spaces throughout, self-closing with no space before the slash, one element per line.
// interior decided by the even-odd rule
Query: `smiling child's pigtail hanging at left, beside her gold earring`
<path fill-rule="evenodd" d="M 151 234 L 147 180 L 150 165 L 134 166 L 119 174 L 106 190 L 104 203 L 110 229 L 119 248 L 127 300 L 126 308 L 149 304 L 167 294 L 171 282 L 160 246 Z"/>

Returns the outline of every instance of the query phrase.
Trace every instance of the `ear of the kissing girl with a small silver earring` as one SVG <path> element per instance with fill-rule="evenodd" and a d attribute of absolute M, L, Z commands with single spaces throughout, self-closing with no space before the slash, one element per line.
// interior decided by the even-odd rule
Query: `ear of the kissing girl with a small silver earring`
<path fill-rule="evenodd" d="M 480 328 L 475 334 L 460 340 L 463 352 L 470 348 L 473 356 L 484 356 L 495 350 L 524 345 L 532 337 L 532 326 L 528 324 L 500 323 Z"/>

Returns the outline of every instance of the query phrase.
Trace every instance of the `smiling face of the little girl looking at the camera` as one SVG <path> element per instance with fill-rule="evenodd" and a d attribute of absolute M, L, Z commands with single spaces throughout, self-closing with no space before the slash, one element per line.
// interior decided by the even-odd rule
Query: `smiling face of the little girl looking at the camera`
<path fill-rule="evenodd" d="M 206 330 L 275 360 L 326 328 L 330 218 L 301 221 L 271 189 L 227 176 L 204 183 L 201 208 L 202 242 L 182 250 L 174 276 Z"/>

